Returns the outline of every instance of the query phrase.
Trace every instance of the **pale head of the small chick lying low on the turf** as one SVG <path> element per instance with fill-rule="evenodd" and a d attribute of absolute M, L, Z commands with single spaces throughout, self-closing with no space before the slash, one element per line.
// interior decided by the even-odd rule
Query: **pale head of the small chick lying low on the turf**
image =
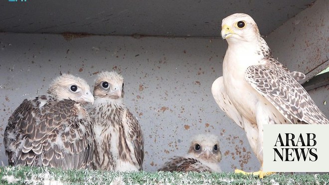
<path fill-rule="evenodd" d="M 222 160 L 222 153 L 219 150 L 218 137 L 212 134 L 195 136 L 189 147 L 188 155 L 195 159 L 219 163 Z"/>

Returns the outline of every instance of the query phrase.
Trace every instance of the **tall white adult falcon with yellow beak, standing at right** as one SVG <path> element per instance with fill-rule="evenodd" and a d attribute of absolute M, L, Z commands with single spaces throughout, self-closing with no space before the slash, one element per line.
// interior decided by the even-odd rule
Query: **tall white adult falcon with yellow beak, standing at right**
<path fill-rule="evenodd" d="M 245 130 L 249 144 L 263 164 L 264 124 L 328 124 L 329 121 L 290 72 L 273 58 L 249 15 L 232 14 L 222 21 L 228 48 L 223 76 L 211 87 L 219 107 Z M 259 172 L 262 178 L 262 173 Z"/>

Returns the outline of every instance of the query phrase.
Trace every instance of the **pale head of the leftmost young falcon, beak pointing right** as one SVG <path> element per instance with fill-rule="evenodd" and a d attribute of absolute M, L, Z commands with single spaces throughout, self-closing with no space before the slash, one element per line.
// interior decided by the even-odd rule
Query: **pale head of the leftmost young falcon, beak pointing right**
<path fill-rule="evenodd" d="M 88 83 L 70 74 L 55 78 L 48 88 L 48 93 L 58 100 L 70 99 L 81 104 L 94 103 L 94 96 Z"/>

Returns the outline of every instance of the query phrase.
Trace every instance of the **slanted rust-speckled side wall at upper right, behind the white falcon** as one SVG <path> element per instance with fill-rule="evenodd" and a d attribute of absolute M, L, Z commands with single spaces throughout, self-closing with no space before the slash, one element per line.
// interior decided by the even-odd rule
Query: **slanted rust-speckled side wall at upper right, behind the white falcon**
<path fill-rule="evenodd" d="M 329 1 L 317 0 L 265 38 L 275 58 L 306 74 L 301 83 L 329 67 L 328 17 Z"/>

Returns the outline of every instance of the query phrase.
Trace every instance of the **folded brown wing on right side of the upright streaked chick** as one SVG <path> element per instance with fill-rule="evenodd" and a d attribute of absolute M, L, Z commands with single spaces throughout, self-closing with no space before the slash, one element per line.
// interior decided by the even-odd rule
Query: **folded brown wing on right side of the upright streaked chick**
<path fill-rule="evenodd" d="M 131 151 L 134 151 L 135 159 L 140 167 L 140 170 L 143 170 L 143 160 L 144 160 L 144 139 L 143 139 L 143 133 L 141 130 L 141 126 L 138 123 L 138 120 L 133 116 L 133 114 L 127 109 L 125 111 L 124 115 L 124 121 L 129 127 L 129 132 L 125 131 L 125 133 L 128 134 L 128 142 L 131 142 L 133 145 L 133 148 L 130 147 Z M 132 159 L 133 156 L 132 156 Z"/>

